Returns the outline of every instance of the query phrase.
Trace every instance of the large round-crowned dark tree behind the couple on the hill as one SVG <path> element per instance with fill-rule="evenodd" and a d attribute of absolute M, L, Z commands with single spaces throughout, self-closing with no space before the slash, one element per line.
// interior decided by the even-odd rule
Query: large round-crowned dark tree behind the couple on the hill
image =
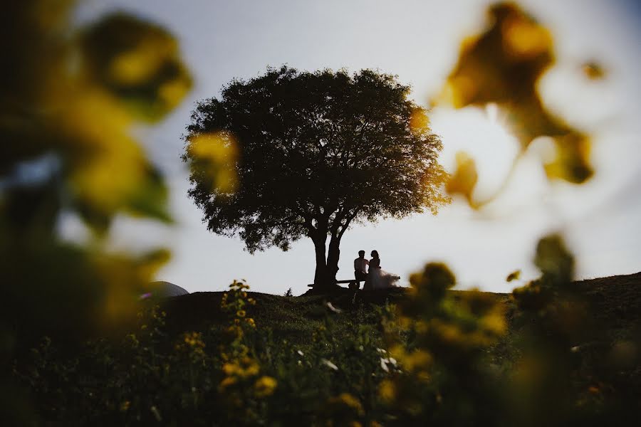
<path fill-rule="evenodd" d="M 286 251 L 308 236 L 315 286 L 333 285 L 350 224 L 436 214 L 449 201 L 442 144 L 409 93 L 374 70 L 283 66 L 232 80 L 219 98 L 197 103 L 184 136 L 189 196 L 203 222 L 250 252 Z"/>

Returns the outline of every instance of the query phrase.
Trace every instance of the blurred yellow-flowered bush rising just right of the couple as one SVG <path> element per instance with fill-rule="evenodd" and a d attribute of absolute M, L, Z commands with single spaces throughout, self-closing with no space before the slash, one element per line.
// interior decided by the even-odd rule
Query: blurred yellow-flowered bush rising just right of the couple
<path fill-rule="evenodd" d="M 504 306 L 486 292 L 449 291 L 456 279 L 440 263 L 425 265 L 410 283 L 397 321 L 385 325 L 400 364 L 380 384 L 389 411 L 401 425 L 496 425 L 502 379 L 489 374 L 484 353 L 506 333 Z"/>

